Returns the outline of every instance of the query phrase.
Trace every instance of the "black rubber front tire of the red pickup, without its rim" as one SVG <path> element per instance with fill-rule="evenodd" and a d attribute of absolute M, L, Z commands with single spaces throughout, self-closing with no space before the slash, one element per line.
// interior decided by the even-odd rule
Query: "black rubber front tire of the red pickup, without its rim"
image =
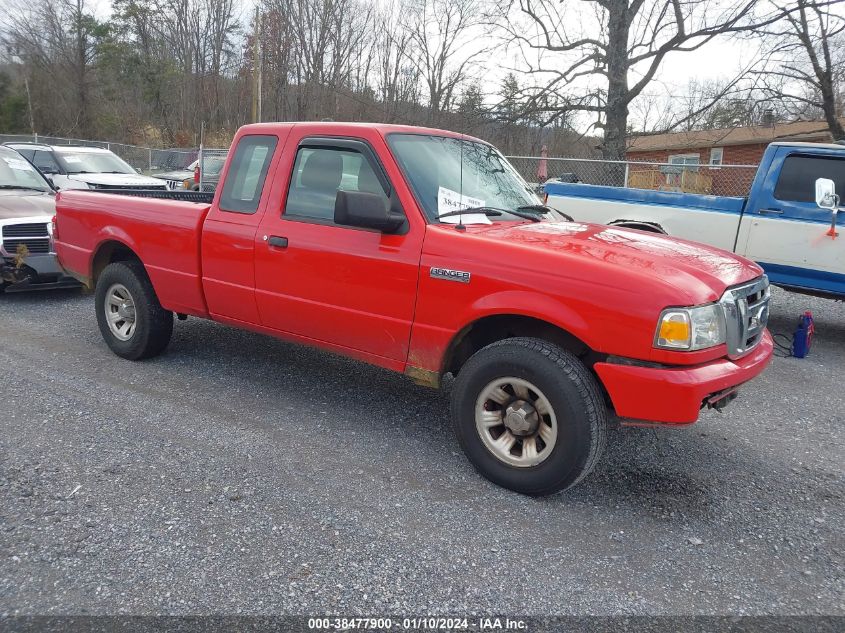
<path fill-rule="evenodd" d="M 539 464 L 505 463 L 476 430 L 476 401 L 487 385 L 503 377 L 536 385 L 554 411 L 557 439 Z M 607 408 L 595 378 L 572 353 L 533 338 L 498 341 L 466 362 L 452 391 L 452 421 L 461 448 L 484 477 L 531 496 L 577 484 L 595 467 L 607 440 Z"/>

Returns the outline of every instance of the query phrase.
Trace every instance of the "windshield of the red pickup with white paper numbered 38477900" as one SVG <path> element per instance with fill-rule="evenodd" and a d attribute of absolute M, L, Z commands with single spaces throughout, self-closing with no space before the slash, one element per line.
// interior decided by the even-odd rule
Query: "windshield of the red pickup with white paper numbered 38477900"
<path fill-rule="evenodd" d="M 390 134 L 387 139 L 430 220 L 462 208 L 515 211 L 540 204 L 531 188 L 491 145 L 418 134 Z M 525 221 L 509 213 L 496 219 Z"/>

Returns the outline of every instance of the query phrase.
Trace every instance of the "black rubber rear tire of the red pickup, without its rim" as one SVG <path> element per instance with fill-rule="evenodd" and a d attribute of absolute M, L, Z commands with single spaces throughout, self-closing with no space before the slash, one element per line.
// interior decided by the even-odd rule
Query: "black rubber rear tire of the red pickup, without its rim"
<path fill-rule="evenodd" d="M 119 339 L 106 318 L 106 296 L 114 284 L 123 285 L 135 304 L 135 328 L 128 340 Z M 161 307 L 144 265 L 138 261 L 115 262 L 105 267 L 94 291 L 97 324 L 106 344 L 129 360 L 161 354 L 173 334 L 173 313 Z"/>

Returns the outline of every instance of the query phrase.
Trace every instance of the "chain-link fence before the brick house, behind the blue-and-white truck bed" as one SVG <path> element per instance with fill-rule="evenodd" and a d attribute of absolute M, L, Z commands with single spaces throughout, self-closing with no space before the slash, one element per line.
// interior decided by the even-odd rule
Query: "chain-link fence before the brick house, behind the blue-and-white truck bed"
<path fill-rule="evenodd" d="M 747 196 L 757 165 L 696 165 L 594 158 L 508 156 L 526 182 L 581 182 L 714 196 Z"/>

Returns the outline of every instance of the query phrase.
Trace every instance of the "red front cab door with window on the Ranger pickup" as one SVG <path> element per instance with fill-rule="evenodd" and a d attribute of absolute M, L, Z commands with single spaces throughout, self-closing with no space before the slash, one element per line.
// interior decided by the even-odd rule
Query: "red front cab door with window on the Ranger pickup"
<path fill-rule="evenodd" d="M 256 301 L 266 327 L 391 366 L 408 355 L 425 224 L 407 213 L 395 164 L 378 158 L 384 140 L 360 132 L 294 128 L 279 168 L 289 174 L 283 203 L 267 210 L 256 235 Z M 336 224 L 341 189 L 378 194 L 405 213 L 404 227 L 386 234 Z"/>

